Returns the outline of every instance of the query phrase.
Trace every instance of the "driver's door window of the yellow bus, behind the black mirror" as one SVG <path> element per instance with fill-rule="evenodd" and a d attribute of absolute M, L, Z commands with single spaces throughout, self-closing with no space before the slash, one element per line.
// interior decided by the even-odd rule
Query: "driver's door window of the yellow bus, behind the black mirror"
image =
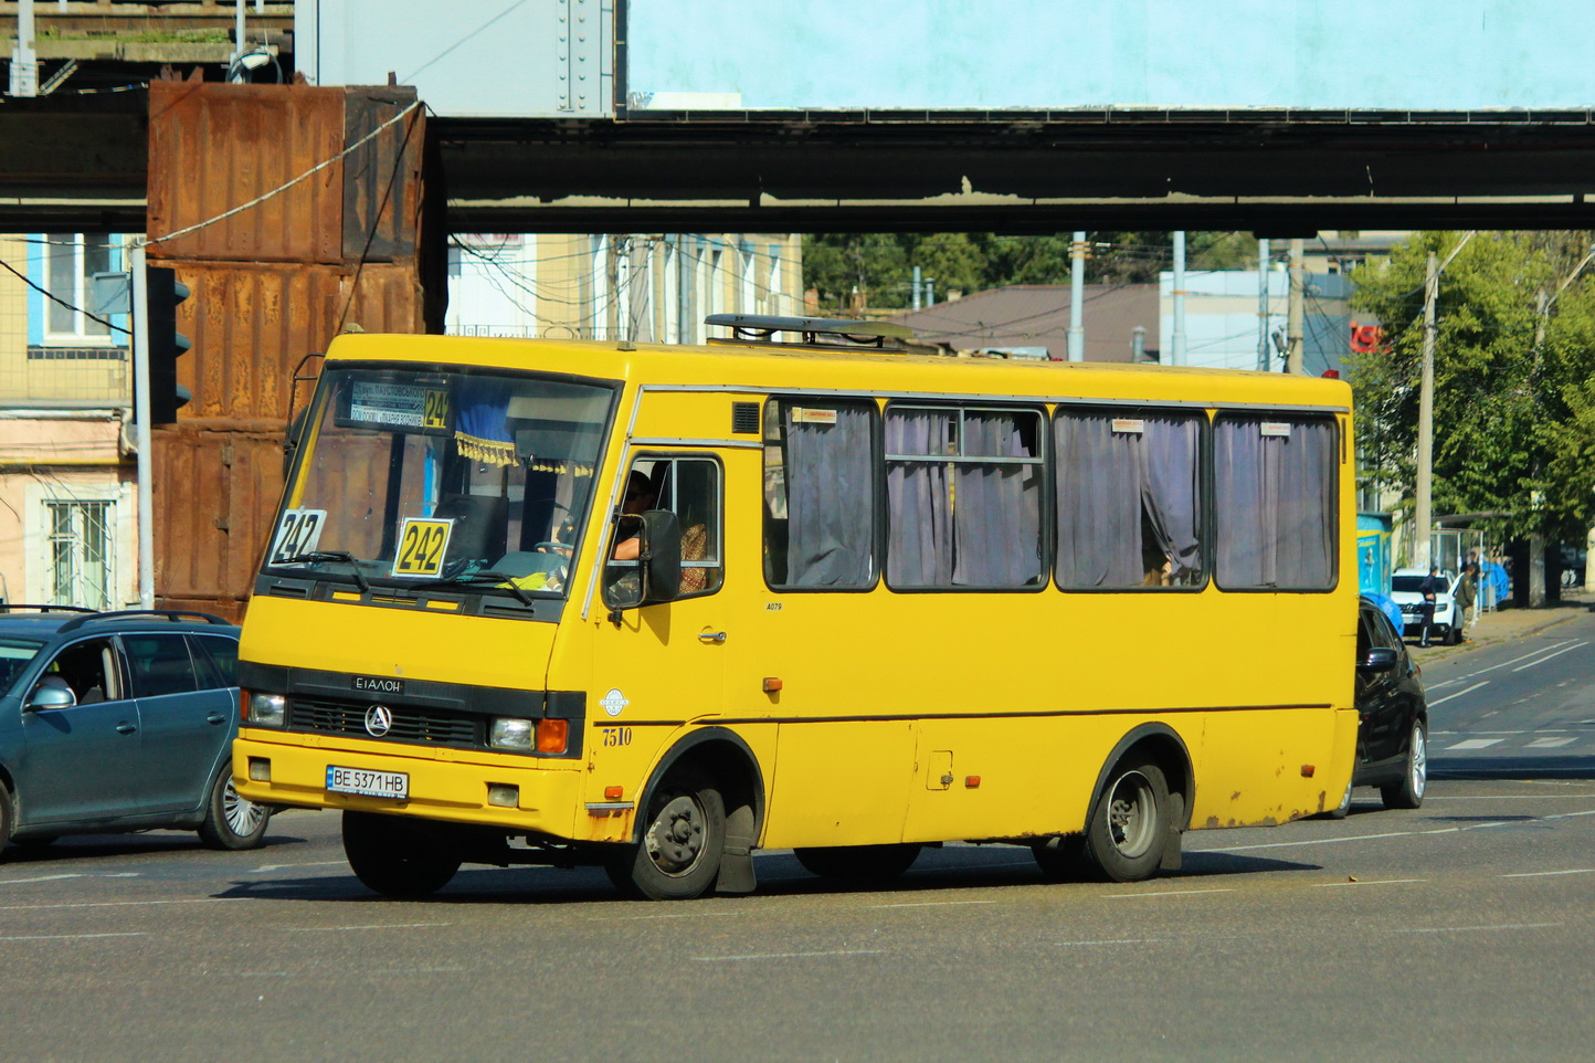
<path fill-rule="evenodd" d="M 724 583 L 721 559 L 721 477 L 719 463 L 707 458 L 638 458 L 627 472 L 620 519 L 605 567 L 605 599 L 635 600 L 620 587 L 641 578 L 636 535 L 641 514 L 668 509 L 681 525 L 683 599 L 713 594 Z"/>

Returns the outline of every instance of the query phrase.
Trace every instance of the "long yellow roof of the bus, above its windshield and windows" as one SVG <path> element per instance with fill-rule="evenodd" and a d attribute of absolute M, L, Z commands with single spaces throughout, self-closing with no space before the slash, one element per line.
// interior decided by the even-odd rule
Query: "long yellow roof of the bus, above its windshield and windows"
<path fill-rule="evenodd" d="M 1349 410 L 1343 380 L 1239 369 L 1038 362 L 853 353 L 799 345 L 713 346 L 603 340 L 517 340 L 416 334 L 348 334 L 327 362 L 421 362 L 522 372 L 557 372 L 630 385 L 723 391 L 860 391 L 882 394 L 984 394 L 1014 399 L 1309 405 Z"/>

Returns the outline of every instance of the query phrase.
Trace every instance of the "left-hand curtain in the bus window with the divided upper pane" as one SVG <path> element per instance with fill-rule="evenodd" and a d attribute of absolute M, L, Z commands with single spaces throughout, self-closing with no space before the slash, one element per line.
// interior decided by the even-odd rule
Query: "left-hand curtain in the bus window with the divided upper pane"
<path fill-rule="evenodd" d="M 887 413 L 887 453 L 946 453 L 955 412 Z M 941 461 L 887 464 L 887 583 L 946 587 L 952 583 L 952 500 Z"/>

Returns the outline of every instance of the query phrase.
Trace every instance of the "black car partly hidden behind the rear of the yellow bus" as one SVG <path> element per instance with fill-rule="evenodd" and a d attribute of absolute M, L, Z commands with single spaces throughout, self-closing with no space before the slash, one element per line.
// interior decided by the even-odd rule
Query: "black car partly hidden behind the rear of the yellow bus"
<path fill-rule="evenodd" d="M 1357 763 L 1332 816 L 1351 808 L 1353 787 L 1378 787 L 1384 808 L 1420 808 L 1429 782 L 1429 705 L 1423 672 L 1389 618 L 1357 603 Z"/>

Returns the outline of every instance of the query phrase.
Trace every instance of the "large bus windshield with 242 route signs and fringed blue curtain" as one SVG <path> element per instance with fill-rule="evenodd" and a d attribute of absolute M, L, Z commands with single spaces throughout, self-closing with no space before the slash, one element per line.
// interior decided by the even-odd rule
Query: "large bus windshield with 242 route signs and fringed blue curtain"
<path fill-rule="evenodd" d="M 329 369 L 273 532 L 281 575 L 563 597 L 614 388 Z"/>

